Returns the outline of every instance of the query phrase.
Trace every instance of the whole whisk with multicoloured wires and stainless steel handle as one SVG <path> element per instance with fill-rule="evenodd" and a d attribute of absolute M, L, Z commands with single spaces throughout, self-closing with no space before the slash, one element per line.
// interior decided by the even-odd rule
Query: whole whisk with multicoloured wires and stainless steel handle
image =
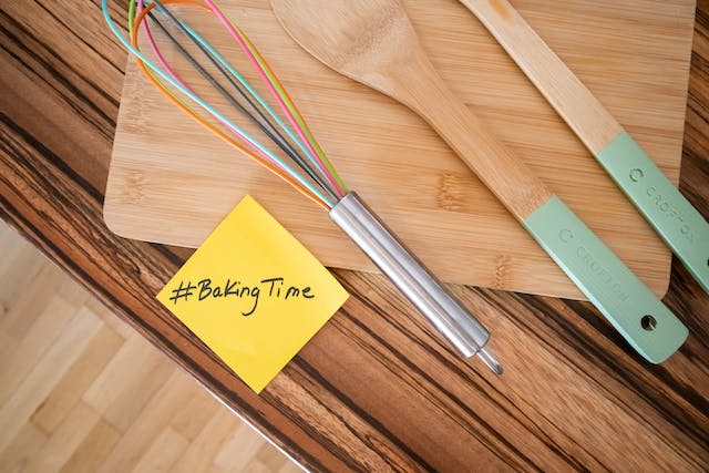
<path fill-rule="evenodd" d="M 167 4 L 194 7 L 214 14 L 249 60 L 285 120 L 212 44 L 166 8 Z M 135 55 L 147 80 L 171 102 L 242 154 L 257 161 L 326 209 L 330 218 L 394 282 L 461 356 L 469 358 L 477 354 L 493 372 L 502 373 L 502 366 L 485 348 L 490 339 L 489 331 L 407 249 L 359 195 L 347 188 L 270 65 L 244 31 L 232 22 L 213 0 L 152 0 L 147 4 L 144 0 L 131 0 L 130 40 L 121 34 L 111 19 L 107 0 L 102 0 L 102 10 L 109 27 Z M 278 151 L 269 150 L 201 97 L 195 88 L 184 81 L 167 62 L 155 41 L 151 25 L 160 30 L 161 35 L 179 55 L 232 106 L 246 116 L 273 145 L 276 145 Z M 155 61 L 151 61 L 141 51 L 141 31 Z M 199 51 L 202 62 L 183 43 Z M 205 62 L 207 65 L 203 64 Z M 217 71 L 222 81 L 210 71 Z M 192 109 L 184 97 L 198 105 L 213 121 L 218 122 L 219 126 Z"/>

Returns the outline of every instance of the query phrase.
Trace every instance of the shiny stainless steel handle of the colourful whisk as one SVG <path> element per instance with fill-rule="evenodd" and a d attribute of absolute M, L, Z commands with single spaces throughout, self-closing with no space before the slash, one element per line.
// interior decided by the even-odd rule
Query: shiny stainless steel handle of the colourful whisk
<path fill-rule="evenodd" d="M 490 332 L 356 193 L 347 194 L 329 215 L 463 357 L 477 354 L 495 373 L 502 373 L 500 362 L 483 348 Z"/>

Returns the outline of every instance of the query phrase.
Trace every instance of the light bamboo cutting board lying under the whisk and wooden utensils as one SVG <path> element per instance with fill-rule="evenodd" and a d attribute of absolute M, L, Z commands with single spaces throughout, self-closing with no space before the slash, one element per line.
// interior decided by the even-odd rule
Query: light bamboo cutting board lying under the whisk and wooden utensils
<path fill-rule="evenodd" d="M 220 4 L 269 60 L 349 187 L 443 280 L 583 298 L 421 119 L 309 56 L 267 1 Z M 670 253 L 484 27 L 452 0 L 404 4 L 461 100 L 662 296 Z M 693 2 L 514 6 L 677 183 Z M 194 24 L 245 64 L 220 29 L 203 28 L 213 19 L 194 14 Z M 373 270 L 321 208 L 183 115 L 131 60 L 104 204 L 109 227 L 124 237 L 196 247 L 245 194 L 325 265 Z"/>

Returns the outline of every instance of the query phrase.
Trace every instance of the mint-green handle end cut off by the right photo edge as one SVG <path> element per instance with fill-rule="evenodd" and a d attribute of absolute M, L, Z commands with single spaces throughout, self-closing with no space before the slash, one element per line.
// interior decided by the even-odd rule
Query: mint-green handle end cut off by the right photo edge
<path fill-rule="evenodd" d="M 596 155 L 628 198 L 709 291 L 709 224 L 623 132 Z"/>

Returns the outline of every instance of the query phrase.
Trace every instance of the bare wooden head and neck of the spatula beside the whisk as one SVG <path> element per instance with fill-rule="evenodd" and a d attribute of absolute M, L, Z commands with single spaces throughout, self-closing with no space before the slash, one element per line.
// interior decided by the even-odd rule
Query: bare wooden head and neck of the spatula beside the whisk
<path fill-rule="evenodd" d="M 421 115 L 518 222 L 552 198 L 552 192 L 522 158 L 439 75 L 403 3 L 360 1 L 349 14 L 342 14 L 349 4 L 271 1 L 276 18 L 298 44 L 335 71 Z M 362 31 L 362 24 L 376 27 Z M 410 187 L 410 192 L 425 189 Z M 436 234 L 431 234 L 431 243 L 436 240 Z"/>

